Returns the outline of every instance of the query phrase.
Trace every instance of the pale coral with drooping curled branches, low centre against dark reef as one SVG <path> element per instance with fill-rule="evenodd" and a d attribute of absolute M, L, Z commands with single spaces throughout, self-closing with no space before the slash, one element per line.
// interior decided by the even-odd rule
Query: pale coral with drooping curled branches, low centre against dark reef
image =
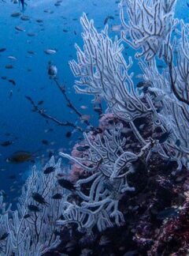
<path fill-rule="evenodd" d="M 63 216 L 58 224 L 76 222 L 79 230 L 91 230 L 95 224 L 102 231 L 112 227 L 113 222 L 120 225 L 124 221 L 123 214 L 118 209 L 118 203 L 124 192 L 134 190 L 128 185 L 127 177 L 134 172 L 133 163 L 138 156 L 125 151 L 125 137 L 121 137 L 123 126 L 117 125 L 112 130 L 106 130 L 103 137 L 99 134 L 95 140 L 84 134 L 85 145 L 88 145 L 88 157 L 72 157 L 63 152 L 61 156 L 72 160 L 88 172 L 86 179 L 76 183 L 76 194 L 80 196 L 81 205 L 76 202 L 66 202 Z M 91 167 L 83 163 L 90 163 Z M 83 188 L 83 186 L 85 188 Z M 89 186 L 90 190 L 86 191 Z"/>

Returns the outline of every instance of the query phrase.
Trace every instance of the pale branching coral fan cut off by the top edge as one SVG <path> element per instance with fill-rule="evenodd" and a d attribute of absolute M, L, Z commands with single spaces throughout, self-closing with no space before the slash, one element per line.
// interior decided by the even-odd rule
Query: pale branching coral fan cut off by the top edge
<path fill-rule="evenodd" d="M 125 6 L 129 17 L 128 24 L 124 21 Z M 135 49 L 141 48 L 142 52 L 138 52 L 136 58 L 144 56 L 146 61 L 150 61 L 163 51 L 164 43 L 169 40 L 172 29 L 178 22 L 173 18 L 175 6 L 176 0 L 120 2 L 120 19 L 124 26 L 122 38 Z"/>

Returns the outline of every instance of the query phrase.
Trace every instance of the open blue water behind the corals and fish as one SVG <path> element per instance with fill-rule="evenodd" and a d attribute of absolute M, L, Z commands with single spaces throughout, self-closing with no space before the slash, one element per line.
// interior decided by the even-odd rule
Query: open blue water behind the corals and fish
<path fill-rule="evenodd" d="M 112 24 L 120 24 L 119 9 L 115 0 L 63 0 L 61 6 L 54 6 L 52 0 L 31 0 L 27 2 L 24 15 L 30 17 L 29 21 L 21 21 L 20 17 L 11 17 L 12 13 L 20 12 L 20 6 L 13 2 L 0 2 L 0 48 L 6 51 L 0 53 L 0 77 L 6 76 L 6 80 L 0 79 L 0 142 L 13 141 L 13 145 L 0 146 L 0 190 L 8 194 L 7 200 L 12 201 L 20 194 L 20 187 L 31 169 L 31 163 L 11 164 L 6 158 L 13 152 L 24 150 L 36 152 L 35 161 L 39 164 L 48 159 L 48 151 L 64 150 L 70 152 L 78 137 L 82 134 L 76 132 L 72 137 L 65 137 L 72 127 L 57 126 L 54 122 L 43 119 L 39 114 L 31 111 L 31 104 L 25 96 L 31 96 L 37 103 L 44 100 L 41 106 L 46 112 L 61 121 L 76 122 L 77 116 L 66 107 L 64 97 L 58 90 L 54 81 L 47 74 L 48 62 L 57 66 L 58 81 L 66 86 L 66 92 L 81 113 L 91 115 L 91 123 L 97 125 L 97 115 L 92 109 L 91 97 L 76 95 L 73 77 L 69 69 L 69 60 L 76 58 L 74 43 L 82 46 L 80 36 L 82 28 L 80 17 L 87 13 L 89 19 L 95 20 L 98 31 L 104 27 L 104 21 L 108 15 L 114 20 L 108 21 Z M 44 9 L 50 9 L 54 13 L 45 13 Z M 185 1 L 178 1 L 176 16 L 184 17 L 188 22 L 186 13 L 189 8 Z M 42 19 L 43 23 L 36 22 Z M 74 20 L 73 20 L 74 19 Z M 18 32 L 15 27 L 24 28 L 24 32 Z M 63 32 L 63 29 L 68 32 Z M 28 36 L 28 32 L 34 32 L 35 36 Z M 119 36 L 119 32 L 111 32 L 109 36 Z M 57 49 L 54 55 L 46 55 L 46 49 Z M 34 51 L 35 54 L 28 54 Z M 127 54 L 127 55 L 126 55 Z M 13 55 L 17 60 L 9 59 Z M 124 51 L 127 59 L 132 55 L 132 50 Z M 6 65 L 13 65 L 13 69 L 7 70 Z M 28 71 L 30 69 L 31 71 Z M 136 74 L 139 66 L 135 64 Z M 9 79 L 16 81 L 16 85 L 9 83 Z M 13 96 L 10 97 L 10 90 Z M 87 106 L 82 110 L 81 105 Z M 85 126 L 83 126 L 85 127 Z M 54 131 L 46 133 L 53 128 Z M 6 136 L 10 133 L 11 136 Z M 50 145 L 43 145 L 42 140 L 49 141 Z M 9 175 L 16 175 L 16 179 L 9 179 Z"/>

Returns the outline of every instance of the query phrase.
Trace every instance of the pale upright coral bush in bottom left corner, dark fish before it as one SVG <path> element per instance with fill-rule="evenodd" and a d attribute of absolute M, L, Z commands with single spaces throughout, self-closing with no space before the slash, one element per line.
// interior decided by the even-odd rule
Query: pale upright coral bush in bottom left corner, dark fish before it
<path fill-rule="evenodd" d="M 6 245 L 1 245 L 1 255 L 42 255 L 60 243 L 60 227 L 55 223 L 61 216 L 65 198 L 64 195 L 58 200 L 52 198 L 64 192 L 60 186 L 55 186 L 56 176 L 61 173 L 60 164 L 60 160 L 55 164 L 52 157 L 42 170 L 33 168 L 23 186 L 17 210 L 7 212 L 3 226 L 1 224 L 0 232 L 4 227 L 8 234 L 3 242 Z"/>

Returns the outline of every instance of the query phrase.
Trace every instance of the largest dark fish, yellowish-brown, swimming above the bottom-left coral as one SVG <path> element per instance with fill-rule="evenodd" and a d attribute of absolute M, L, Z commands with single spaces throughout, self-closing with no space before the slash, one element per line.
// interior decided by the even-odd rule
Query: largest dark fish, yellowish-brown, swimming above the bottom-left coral
<path fill-rule="evenodd" d="M 6 161 L 13 164 L 20 164 L 32 160 L 33 156 L 34 154 L 32 154 L 31 152 L 17 151 L 14 152 L 12 156 L 8 157 Z"/>

